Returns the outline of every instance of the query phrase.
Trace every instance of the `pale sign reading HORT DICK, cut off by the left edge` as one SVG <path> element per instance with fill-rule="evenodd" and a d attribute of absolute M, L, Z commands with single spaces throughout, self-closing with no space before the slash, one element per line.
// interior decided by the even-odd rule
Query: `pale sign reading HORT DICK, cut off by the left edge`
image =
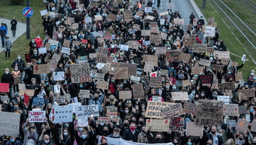
<path fill-rule="evenodd" d="M 20 113 L 0 112 L 0 134 L 18 137 L 20 131 Z"/>

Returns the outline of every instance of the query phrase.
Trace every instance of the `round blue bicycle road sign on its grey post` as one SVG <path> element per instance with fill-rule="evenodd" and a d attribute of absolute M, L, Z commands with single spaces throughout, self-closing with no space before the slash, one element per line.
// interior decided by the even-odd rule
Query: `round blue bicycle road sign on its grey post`
<path fill-rule="evenodd" d="M 30 0 L 27 0 L 27 7 L 22 11 L 22 14 L 27 18 L 27 39 L 30 39 L 30 17 L 33 15 L 33 9 L 29 5 Z"/>

